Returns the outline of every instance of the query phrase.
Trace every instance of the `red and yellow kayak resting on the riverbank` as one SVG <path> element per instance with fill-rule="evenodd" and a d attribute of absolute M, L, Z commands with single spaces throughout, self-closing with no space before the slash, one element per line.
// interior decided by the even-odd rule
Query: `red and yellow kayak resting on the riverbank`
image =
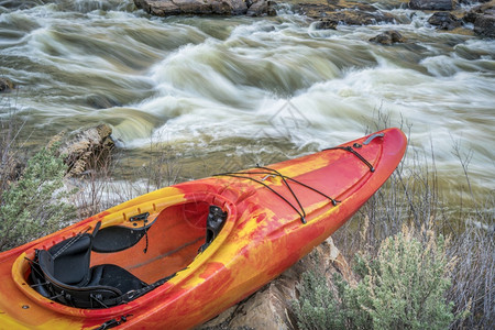
<path fill-rule="evenodd" d="M 2 329 L 190 329 L 354 215 L 404 156 L 387 129 L 140 196 L 0 254 Z"/>

